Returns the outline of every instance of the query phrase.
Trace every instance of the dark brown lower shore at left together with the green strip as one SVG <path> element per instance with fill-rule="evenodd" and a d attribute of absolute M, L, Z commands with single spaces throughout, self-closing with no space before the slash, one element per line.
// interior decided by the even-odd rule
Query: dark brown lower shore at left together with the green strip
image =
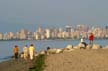
<path fill-rule="evenodd" d="M 37 68 L 40 67 L 40 64 L 41 64 L 40 70 L 43 70 L 42 68 L 43 63 L 41 63 L 41 61 L 44 62 L 45 59 L 44 57 L 39 55 L 37 57 L 34 57 L 33 60 L 30 59 L 24 60 L 23 58 L 19 58 L 18 60 L 15 60 L 12 58 L 8 61 L 4 61 L 0 63 L 0 71 L 32 71 L 34 69 L 34 66 L 36 66 Z M 38 70 L 37 68 L 36 71 L 40 71 L 40 70 Z"/>

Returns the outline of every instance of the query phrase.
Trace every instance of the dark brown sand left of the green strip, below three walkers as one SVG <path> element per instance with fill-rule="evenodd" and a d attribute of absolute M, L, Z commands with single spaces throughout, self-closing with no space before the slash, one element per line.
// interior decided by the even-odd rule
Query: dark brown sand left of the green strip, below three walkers
<path fill-rule="evenodd" d="M 30 60 L 25 61 L 24 59 L 10 60 L 0 63 L 0 71 L 28 71 L 32 66 Z"/>

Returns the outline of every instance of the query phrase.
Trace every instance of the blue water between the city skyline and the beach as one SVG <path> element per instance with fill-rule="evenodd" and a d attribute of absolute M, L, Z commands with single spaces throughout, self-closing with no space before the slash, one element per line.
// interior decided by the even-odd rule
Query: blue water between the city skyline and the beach
<path fill-rule="evenodd" d="M 64 48 L 68 44 L 73 46 L 77 45 L 80 40 L 41 40 L 41 41 L 0 41 L 0 62 L 10 59 L 13 55 L 13 48 L 15 45 L 19 46 L 19 52 L 22 52 L 24 45 L 34 44 L 36 51 L 46 50 L 49 46 L 51 48 Z M 85 42 L 89 43 L 88 40 Z M 108 45 L 107 39 L 95 40 L 94 43 L 100 44 L 102 46 Z"/>

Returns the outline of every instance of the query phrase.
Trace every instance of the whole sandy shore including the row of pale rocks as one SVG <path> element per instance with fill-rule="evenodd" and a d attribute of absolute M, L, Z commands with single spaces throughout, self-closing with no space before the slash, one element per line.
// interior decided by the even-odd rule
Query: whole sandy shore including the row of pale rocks
<path fill-rule="evenodd" d="M 39 67 L 41 65 L 39 71 L 71 71 L 72 69 L 74 71 L 93 71 L 94 69 L 95 71 L 104 71 L 104 68 L 108 70 L 107 46 L 102 48 L 99 44 L 93 44 L 92 46 L 88 45 L 86 49 L 81 49 L 81 47 L 82 46 L 78 44 L 77 46 L 67 45 L 62 49 L 51 48 L 47 50 L 47 52 L 43 50 L 34 57 L 33 61 L 30 59 L 26 61 L 23 58 L 19 58 L 16 61 L 11 58 L 8 61 L 1 62 L 0 69 L 2 71 L 29 71 L 30 68 L 34 70 L 38 69 L 36 68 L 38 67 L 38 63 Z M 39 61 L 40 58 L 36 59 L 39 55 L 47 56 L 45 60 L 42 58 L 41 62 Z M 96 68 L 96 66 L 98 66 L 98 68 Z"/>

